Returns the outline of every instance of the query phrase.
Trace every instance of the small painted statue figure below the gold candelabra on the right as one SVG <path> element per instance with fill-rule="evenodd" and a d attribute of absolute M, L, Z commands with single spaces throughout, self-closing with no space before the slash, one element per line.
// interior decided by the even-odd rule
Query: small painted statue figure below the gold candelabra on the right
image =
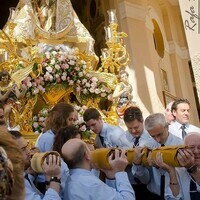
<path fill-rule="evenodd" d="M 122 117 L 124 111 L 133 105 L 132 86 L 128 82 L 128 73 L 122 70 L 119 73 L 119 83 L 117 84 L 112 98 L 117 101 L 116 112 L 119 117 Z"/>

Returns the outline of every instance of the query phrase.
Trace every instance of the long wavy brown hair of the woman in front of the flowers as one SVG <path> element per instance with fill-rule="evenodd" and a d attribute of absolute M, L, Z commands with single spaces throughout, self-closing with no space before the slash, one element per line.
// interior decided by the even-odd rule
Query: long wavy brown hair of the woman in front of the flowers
<path fill-rule="evenodd" d="M 65 102 L 56 104 L 47 116 L 44 132 L 51 129 L 56 134 L 60 128 L 67 126 L 66 119 L 72 112 L 72 105 Z"/>

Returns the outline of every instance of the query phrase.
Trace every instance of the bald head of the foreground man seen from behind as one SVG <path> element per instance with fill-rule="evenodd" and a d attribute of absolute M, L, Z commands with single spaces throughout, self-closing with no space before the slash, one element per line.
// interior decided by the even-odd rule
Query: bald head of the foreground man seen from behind
<path fill-rule="evenodd" d="M 78 168 L 82 164 L 86 150 L 85 142 L 78 138 L 70 139 L 63 145 L 62 156 L 69 169 Z"/>

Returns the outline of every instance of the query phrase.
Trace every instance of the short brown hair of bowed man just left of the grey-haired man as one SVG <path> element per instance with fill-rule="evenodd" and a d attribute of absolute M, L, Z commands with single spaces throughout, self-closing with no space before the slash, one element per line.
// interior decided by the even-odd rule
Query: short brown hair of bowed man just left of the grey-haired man
<path fill-rule="evenodd" d="M 142 111 L 136 106 L 131 106 L 127 108 L 124 112 L 124 121 L 131 122 L 134 120 L 138 120 L 139 122 L 144 121 Z"/>

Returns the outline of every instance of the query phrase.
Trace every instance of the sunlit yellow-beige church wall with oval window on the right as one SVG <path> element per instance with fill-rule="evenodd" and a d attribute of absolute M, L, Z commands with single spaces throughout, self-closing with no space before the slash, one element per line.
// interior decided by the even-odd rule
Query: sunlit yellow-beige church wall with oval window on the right
<path fill-rule="evenodd" d="M 170 94 L 190 101 L 191 123 L 199 125 L 179 6 L 167 0 L 110 0 L 110 7 L 117 10 L 119 29 L 128 34 L 125 44 L 131 62 L 127 71 L 133 96 L 144 116 L 164 112 L 162 68 L 167 73 Z M 163 36 L 163 58 L 155 50 L 152 19 Z"/>

